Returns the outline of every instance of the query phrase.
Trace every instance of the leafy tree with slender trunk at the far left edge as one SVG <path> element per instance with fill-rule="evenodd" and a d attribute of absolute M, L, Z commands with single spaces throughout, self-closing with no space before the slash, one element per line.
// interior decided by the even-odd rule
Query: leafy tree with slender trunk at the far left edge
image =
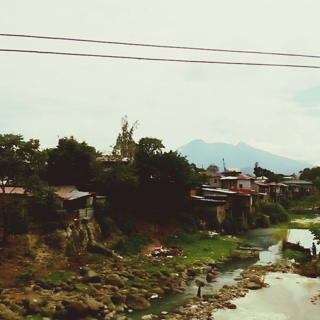
<path fill-rule="evenodd" d="M 0 134 L 0 188 L 3 219 L 3 243 L 9 236 L 9 217 L 6 212 L 5 188 L 27 180 L 33 173 L 45 168 L 45 153 L 39 150 L 39 140 L 24 141 L 20 134 Z"/>

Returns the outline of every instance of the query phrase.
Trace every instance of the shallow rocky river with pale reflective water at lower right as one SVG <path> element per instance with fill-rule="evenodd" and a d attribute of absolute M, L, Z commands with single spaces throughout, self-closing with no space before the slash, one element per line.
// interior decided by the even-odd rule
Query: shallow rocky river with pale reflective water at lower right
<path fill-rule="evenodd" d="M 202 280 L 206 286 L 201 293 L 215 292 L 224 284 L 236 284 L 234 278 L 238 276 L 244 268 L 252 264 L 287 264 L 288 261 L 282 256 L 280 246 L 273 234 L 279 229 L 266 228 L 254 229 L 241 235 L 255 247 L 261 249 L 259 257 L 243 260 L 227 261 L 220 268 L 217 282 L 206 283 L 205 275 L 197 276 L 196 279 Z M 313 236 L 307 229 L 290 229 L 288 241 L 300 244 L 305 248 L 311 247 Z M 281 277 L 282 279 L 276 279 Z M 262 288 L 258 291 L 249 292 L 245 298 L 234 300 L 237 309 L 227 311 L 219 310 L 216 312 L 215 319 L 316 319 L 320 318 L 320 306 L 310 302 L 317 290 L 320 290 L 320 281 L 299 276 L 297 274 L 276 274 L 271 273 L 266 276 L 266 282 L 270 288 Z M 267 281 L 268 279 L 268 281 Z M 161 311 L 171 311 L 172 309 L 184 306 L 188 300 L 196 296 L 198 287 L 195 280 L 187 282 L 186 290 L 182 294 L 168 294 L 162 298 L 151 301 L 151 307 L 144 311 L 134 311 L 126 314 L 131 320 L 139 320 L 141 316 L 152 313 L 160 314 Z M 310 309 L 317 310 L 311 312 Z M 281 312 L 280 312 L 281 310 Z M 305 315 L 306 313 L 306 315 Z M 315 314 L 317 315 L 315 317 Z M 303 317 L 301 317 L 303 315 Z M 299 317 L 300 316 L 300 317 Z M 311 316 L 311 317 L 309 317 Z M 313 317 L 312 317 L 313 316 Z"/>

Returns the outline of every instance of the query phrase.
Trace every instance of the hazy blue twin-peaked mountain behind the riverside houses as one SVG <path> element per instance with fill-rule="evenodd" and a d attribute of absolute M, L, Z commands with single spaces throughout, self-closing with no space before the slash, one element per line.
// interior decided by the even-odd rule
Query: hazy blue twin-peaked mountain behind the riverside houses
<path fill-rule="evenodd" d="M 197 167 L 207 168 L 209 164 L 215 164 L 223 171 L 222 158 L 226 168 L 239 168 L 242 172 L 252 173 L 256 162 L 259 166 L 275 173 L 290 175 L 298 174 L 304 168 L 312 168 L 314 165 L 292 160 L 286 157 L 276 156 L 270 152 L 253 148 L 239 142 L 236 146 L 228 143 L 205 143 L 204 140 L 194 140 L 177 149 L 182 156 L 187 156 L 190 163 Z"/>

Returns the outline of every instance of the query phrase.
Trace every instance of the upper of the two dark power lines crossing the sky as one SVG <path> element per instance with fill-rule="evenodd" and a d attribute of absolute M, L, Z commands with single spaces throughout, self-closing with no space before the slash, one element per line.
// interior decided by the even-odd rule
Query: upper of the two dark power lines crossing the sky
<path fill-rule="evenodd" d="M 171 46 L 171 45 L 138 44 L 138 43 L 115 42 L 115 41 L 86 40 L 86 39 L 75 39 L 75 38 L 59 38 L 59 37 L 29 36 L 29 35 L 15 35 L 15 34 L 0 34 L 0 36 L 39 38 L 39 39 L 52 39 L 52 40 L 84 41 L 84 42 L 107 43 L 107 44 L 124 44 L 124 45 L 137 45 L 137 46 L 143 46 L 143 47 L 156 47 L 156 48 L 191 49 L 191 50 L 238 52 L 238 53 L 258 53 L 258 54 L 272 54 L 272 55 L 280 55 L 280 56 L 320 58 L 320 56 L 312 56 L 312 55 L 306 55 L 306 54 L 243 51 L 243 50 L 225 50 L 225 49 L 208 49 L 208 48 L 196 48 L 196 47 L 180 47 L 180 46 Z"/>

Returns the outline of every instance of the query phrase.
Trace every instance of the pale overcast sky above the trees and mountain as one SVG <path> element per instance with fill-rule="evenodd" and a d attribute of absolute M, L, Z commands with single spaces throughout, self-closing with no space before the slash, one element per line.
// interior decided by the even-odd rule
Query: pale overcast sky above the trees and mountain
<path fill-rule="evenodd" d="M 0 33 L 320 55 L 320 2 L 16 0 Z M 0 36 L 0 49 L 320 66 L 318 58 Z M 107 152 L 121 118 L 177 149 L 242 141 L 320 165 L 320 69 L 0 52 L 0 133 Z"/>

